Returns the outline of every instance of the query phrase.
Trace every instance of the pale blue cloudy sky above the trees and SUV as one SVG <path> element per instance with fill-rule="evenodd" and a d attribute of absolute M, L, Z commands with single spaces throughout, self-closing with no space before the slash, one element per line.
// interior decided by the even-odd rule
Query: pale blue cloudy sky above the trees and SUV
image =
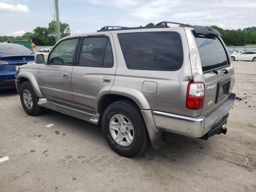
<path fill-rule="evenodd" d="M 256 26 L 256 0 L 58 0 L 60 21 L 71 34 L 103 26 L 145 26 L 161 21 L 216 25 L 224 29 Z M 54 0 L 0 0 L 0 36 L 21 36 L 54 19 Z"/>

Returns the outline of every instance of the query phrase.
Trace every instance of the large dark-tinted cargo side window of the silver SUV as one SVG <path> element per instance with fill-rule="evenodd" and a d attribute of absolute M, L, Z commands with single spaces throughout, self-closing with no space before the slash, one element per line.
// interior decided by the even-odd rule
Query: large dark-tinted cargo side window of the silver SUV
<path fill-rule="evenodd" d="M 118 34 L 126 66 L 137 70 L 178 70 L 183 49 L 177 32 Z"/>

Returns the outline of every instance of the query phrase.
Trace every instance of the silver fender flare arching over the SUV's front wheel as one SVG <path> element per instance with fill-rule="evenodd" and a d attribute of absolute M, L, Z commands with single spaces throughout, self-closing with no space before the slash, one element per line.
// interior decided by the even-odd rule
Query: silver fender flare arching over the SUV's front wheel
<path fill-rule="evenodd" d="M 24 77 L 26 79 L 29 80 L 29 82 L 31 83 L 33 89 L 34 89 L 34 92 L 36 94 L 36 96 L 38 96 L 39 98 L 44 98 L 44 96 L 42 95 L 40 89 L 39 89 L 39 86 L 38 86 L 38 83 L 36 81 L 36 78 L 34 77 L 34 75 L 30 72 L 27 72 L 27 71 L 21 71 L 18 73 L 18 75 L 16 76 L 16 88 L 18 90 L 18 87 L 20 87 L 20 79 Z"/>

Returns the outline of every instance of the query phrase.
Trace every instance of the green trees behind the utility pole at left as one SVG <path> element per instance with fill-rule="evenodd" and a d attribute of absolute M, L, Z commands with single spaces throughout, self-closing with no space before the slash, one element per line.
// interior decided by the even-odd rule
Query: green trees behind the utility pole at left
<path fill-rule="evenodd" d="M 56 43 L 56 22 L 52 21 L 48 27 L 36 27 L 32 32 L 26 32 L 22 36 L 0 36 L 0 42 L 4 42 L 7 38 L 18 40 L 32 39 L 36 46 L 53 46 Z M 70 35 L 69 24 L 60 22 L 60 38 Z"/>

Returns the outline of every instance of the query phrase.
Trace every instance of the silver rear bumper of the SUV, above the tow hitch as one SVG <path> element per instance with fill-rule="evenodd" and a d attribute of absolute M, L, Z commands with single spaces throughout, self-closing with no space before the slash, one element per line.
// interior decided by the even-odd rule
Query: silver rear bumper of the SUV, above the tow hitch
<path fill-rule="evenodd" d="M 236 94 L 232 93 L 228 100 L 219 108 L 207 116 L 187 117 L 176 114 L 170 114 L 160 111 L 152 111 L 152 116 L 156 128 L 161 132 L 170 132 L 184 136 L 200 138 L 216 127 L 227 116 L 235 102 Z M 226 119 L 225 121 L 226 122 Z M 224 123 L 223 122 L 223 123 Z M 215 132 L 212 132 L 215 133 Z M 217 132 L 215 133 L 217 134 Z M 212 136 L 214 134 L 209 134 Z"/>

